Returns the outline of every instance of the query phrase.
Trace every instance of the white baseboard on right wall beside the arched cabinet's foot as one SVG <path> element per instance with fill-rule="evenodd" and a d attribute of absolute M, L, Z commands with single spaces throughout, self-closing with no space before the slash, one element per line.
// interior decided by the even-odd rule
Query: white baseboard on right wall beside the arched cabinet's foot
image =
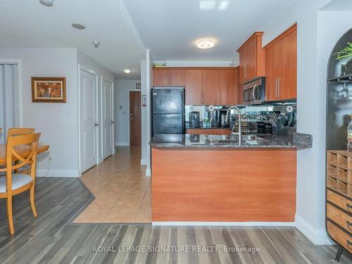
<path fill-rule="evenodd" d="M 315 230 L 301 216 L 296 215 L 296 228 L 302 232 L 315 245 L 334 245 L 334 241 L 329 239 L 325 229 Z"/>

